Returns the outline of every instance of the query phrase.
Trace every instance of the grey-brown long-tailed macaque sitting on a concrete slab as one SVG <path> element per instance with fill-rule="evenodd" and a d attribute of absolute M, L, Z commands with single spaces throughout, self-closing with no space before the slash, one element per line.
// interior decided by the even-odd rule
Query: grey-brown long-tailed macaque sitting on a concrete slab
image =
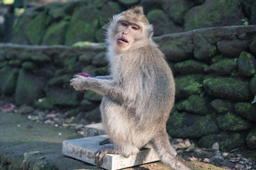
<path fill-rule="evenodd" d="M 77 91 L 103 96 L 102 124 L 113 144 L 97 151 L 98 165 L 107 153 L 129 157 L 150 143 L 164 164 L 190 169 L 171 152 L 166 121 L 174 105 L 174 77 L 152 35 L 141 6 L 119 13 L 107 28 L 110 77 L 75 75 L 70 81 Z"/>

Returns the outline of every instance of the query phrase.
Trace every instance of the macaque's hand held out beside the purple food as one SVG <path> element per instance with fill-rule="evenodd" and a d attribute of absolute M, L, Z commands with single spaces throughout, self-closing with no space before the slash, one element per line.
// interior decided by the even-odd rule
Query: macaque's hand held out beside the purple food
<path fill-rule="evenodd" d="M 90 77 L 82 77 L 80 75 L 75 75 L 73 79 L 70 80 L 70 86 L 73 86 L 76 91 L 86 91 L 90 89 Z"/>

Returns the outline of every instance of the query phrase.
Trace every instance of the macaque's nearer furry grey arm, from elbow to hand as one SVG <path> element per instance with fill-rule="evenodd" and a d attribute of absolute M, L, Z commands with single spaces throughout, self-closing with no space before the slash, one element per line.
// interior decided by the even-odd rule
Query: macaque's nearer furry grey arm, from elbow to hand
<path fill-rule="evenodd" d="M 73 86 L 76 91 L 95 91 L 97 94 L 107 96 L 117 103 L 123 103 L 128 100 L 128 96 L 124 96 L 122 89 L 111 79 L 95 79 L 75 75 L 74 78 L 70 80 L 70 85 Z"/>

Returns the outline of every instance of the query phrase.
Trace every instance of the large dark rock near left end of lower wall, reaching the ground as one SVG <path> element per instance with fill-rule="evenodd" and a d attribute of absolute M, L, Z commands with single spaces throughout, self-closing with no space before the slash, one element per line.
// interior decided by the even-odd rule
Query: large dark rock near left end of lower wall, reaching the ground
<path fill-rule="evenodd" d="M 38 77 L 29 74 L 24 69 L 18 72 L 18 80 L 15 91 L 17 105 L 34 103 L 38 98 L 45 96 L 46 85 Z"/>

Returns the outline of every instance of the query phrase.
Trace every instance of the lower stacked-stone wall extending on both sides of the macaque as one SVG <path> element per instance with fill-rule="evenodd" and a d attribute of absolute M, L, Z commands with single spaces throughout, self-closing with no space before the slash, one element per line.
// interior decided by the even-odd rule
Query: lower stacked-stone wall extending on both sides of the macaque
<path fill-rule="evenodd" d="M 173 137 L 203 147 L 256 146 L 256 26 L 191 30 L 154 38 L 176 81 L 176 103 L 167 124 Z M 0 44 L 0 94 L 17 105 L 68 108 L 100 121 L 101 97 L 70 87 L 78 72 L 108 73 L 105 47 Z"/>

